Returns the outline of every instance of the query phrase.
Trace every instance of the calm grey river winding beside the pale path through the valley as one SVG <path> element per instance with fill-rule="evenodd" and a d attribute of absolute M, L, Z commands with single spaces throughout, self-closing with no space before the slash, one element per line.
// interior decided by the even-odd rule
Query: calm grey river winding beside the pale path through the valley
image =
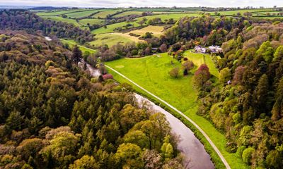
<path fill-rule="evenodd" d="M 81 66 L 85 62 L 81 62 Z M 98 77 L 100 75 L 99 71 L 91 65 L 86 64 L 86 68 L 89 73 L 93 77 Z M 211 161 L 209 154 L 205 151 L 203 144 L 200 142 L 195 134 L 184 125 L 178 118 L 168 113 L 168 111 L 164 110 L 160 106 L 157 106 L 149 99 L 146 99 L 144 96 L 134 93 L 134 96 L 137 99 L 137 104 L 139 106 L 146 106 L 155 112 L 160 112 L 166 115 L 166 119 L 168 120 L 172 132 L 179 136 L 180 142 L 178 142 L 178 150 L 185 156 L 185 163 L 190 161 L 187 168 L 190 169 L 214 169 L 214 164 Z"/>

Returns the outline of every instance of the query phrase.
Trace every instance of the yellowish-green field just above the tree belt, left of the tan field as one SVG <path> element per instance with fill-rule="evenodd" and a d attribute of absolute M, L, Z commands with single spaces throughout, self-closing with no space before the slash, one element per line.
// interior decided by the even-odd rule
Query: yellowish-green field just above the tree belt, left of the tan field
<path fill-rule="evenodd" d="M 122 35 L 115 35 L 112 33 L 109 34 L 101 34 L 96 35 L 96 40 L 90 42 L 89 44 L 93 46 L 101 46 L 103 44 L 108 44 L 108 46 L 113 46 L 114 44 L 127 44 L 128 42 L 133 42 L 131 39 L 122 36 Z"/>

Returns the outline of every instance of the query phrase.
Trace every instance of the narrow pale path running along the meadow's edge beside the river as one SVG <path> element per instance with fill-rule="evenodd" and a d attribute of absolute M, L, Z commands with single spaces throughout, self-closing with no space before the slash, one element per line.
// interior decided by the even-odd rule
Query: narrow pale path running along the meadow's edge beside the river
<path fill-rule="evenodd" d="M 158 101 L 161 101 L 163 104 L 166 104 L 168 107 L 172 108 L 174 111 L 176 111 L 177 113 L 179 113 L 180 115 L 182 115 L 185 119 L 189 120 L 190 123 L 192 123 L 192 125 L 195 125 L 195 127 L 197 127 L 197 130 L 200 130 L 200 132 L 202 132 L 202 134 L 204 135 L 204 137 L 207 139 L 207 141 L 209 142 L 209 144 L 212 146 L 212 148 L 214 149 L 214 151 L 216 151 L 216 154 L 218 154 L 218 156 L 221 158 L 221 161 L 224 163 L 224 165 L 226 166 L 227 169 L 231 169 L 229 163 L 227 163 L 226 159 L 224 158 L 224 156 L 221 154 L 221 152 L 219 151 L 219 149 L 215 146 L 215 144 L 212 142 L 212 140 L 209 138 L 209 136 L 204 132 L 204 130 L 202 130 L 202 128 L 197 125 L 197 123 L 195 123 L 192 119 L 188 118 L 187 115 L 185 115 L 184 113 L 182 113 L 181 111 L 179 111 L 177 108 L 173 107 L 171 104 L 168 104 L 166 101 L 164 101 L 163 99 L 159 98 L 158 96 L 156 96 L 155 94 L 152 94 L 151 92 L 147 91 L 146 89 L 144 89 L 144 87 L 141 87 L 139 84 L 133 82 L 132 80 L 130 80 L 128 77 L 126 77 L 125 75 L 123 75 L 122 73 L 119 73 L 117 70 L 111 68 L 108 65 L 105 65 L 106 68 L 109 68 L 110 70 L 114 71 L 115 73 L 117 73 L 118 75 L 124 77 L 126 80 L 129 80 L 129 82 L 132 82 L 132 84 L 136 85 L 137 87 L 139 87 L 139 89 L 142 89 L 144 92 L 150 94 L 151 96 L 154 96 L 154 98 L 158 99 Z"/>

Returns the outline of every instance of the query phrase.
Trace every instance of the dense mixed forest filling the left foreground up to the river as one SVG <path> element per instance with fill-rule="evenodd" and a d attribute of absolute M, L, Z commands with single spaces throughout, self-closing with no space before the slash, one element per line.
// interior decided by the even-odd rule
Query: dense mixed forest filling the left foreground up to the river
<path fill-rule="evenodd" d="M 161 113 L 57 42 L 0 32 L 0 168 L 183 168 Z"/>

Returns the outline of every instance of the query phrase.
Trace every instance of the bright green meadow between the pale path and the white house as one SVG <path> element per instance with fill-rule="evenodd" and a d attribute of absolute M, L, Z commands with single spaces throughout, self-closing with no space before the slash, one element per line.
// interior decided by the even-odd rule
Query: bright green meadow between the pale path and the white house
<path fill-rule="evenodd" d="M 207 54 L 192 54 L 186 51 L 185 56 L 194 61 L 195 65 L 207 63 L 209 70 L 214 76 L 218 76 L 218 71 L 214 67 L 212 60 Z M 171 64 L 173 61 L 173 65 Z M 122 58 L 120 60 L 105 63 L 129 79 L 137 82 L 149 92 L 156 94 L 161 99 L 167 101 L 172 106 L 183 111 L 185 115 L 195 121 L 197 125 L 202 127 L 212 139 L 214 144 L 226 158 L 231 168 L 241 169 L 248 166 L 236 154 L 230 154 L 225 150 L 226 138 L 223 134 L 215 129 L 208 120 L 197 115 L 197 89 L 193 87 L 192 74 L 187 77 L 179 77 L 175 79 L 168 75 L 168 71 L 174 67 L 180 67 L 181 63 L 173 60 L 168 54 L 157 54 L 145 58 Z M 195 68 L 196 70 L 197 68 Z M 195 70 L 192 70 L 193 72 Z M 120 75 L 110 71 L 119 82 L 128 82 Z M 130 82 L 128 82 L 130 83 Z M 134 87 L 138 92 L 146 94 L 141 89 Z"/>

